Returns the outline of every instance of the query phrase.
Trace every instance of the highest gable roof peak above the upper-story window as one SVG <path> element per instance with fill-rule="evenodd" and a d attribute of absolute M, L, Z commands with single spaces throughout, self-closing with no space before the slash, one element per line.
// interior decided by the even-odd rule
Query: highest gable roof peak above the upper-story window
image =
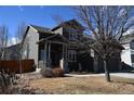
<path fill-rule="evenodd" d="M 57 25 L 54 28 L 52 28 L 51 30 L 53 31 L 53 30 L 55 30 L 55 29 L 57 29 L 57 28 L 59 28 L 62 26 L 66 26 L 66 25 L 71 25 L 71 26 L 77 25 L 80 29 L 84 30 L 84 27 L 75 18 L 66 21 L 66 22 L 63 22 L 59 25 Z"/>

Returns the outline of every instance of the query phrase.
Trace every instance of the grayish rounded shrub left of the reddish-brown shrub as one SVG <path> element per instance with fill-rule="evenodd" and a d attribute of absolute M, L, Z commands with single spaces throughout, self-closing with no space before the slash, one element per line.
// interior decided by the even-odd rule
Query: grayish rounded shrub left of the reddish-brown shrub
<path fill-rule="evenodd" d="M 54 77 L 52 68 L 49 67 L 42 67 L 40 74 L 42 75 L 42 77 Z"/>

